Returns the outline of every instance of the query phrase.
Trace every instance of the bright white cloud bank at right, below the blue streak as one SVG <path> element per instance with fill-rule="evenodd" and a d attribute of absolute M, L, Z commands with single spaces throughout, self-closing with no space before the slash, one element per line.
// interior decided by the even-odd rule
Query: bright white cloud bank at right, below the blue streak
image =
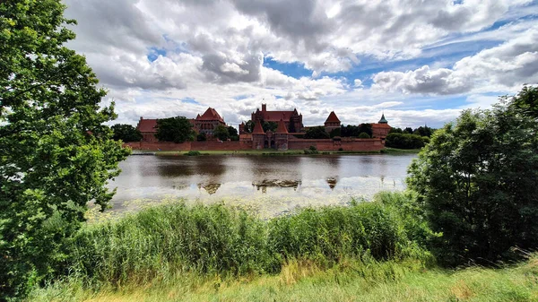
<path fill-rule="evenodd" d="M 513 91 L 524 82 L 538 82 L 538 27 L 498 47 L 466 56 L 451 69 L 424 65 L 404 73 L 377 73 L 372 79 L 372 88 L 378 91 L 440 95 Z"/>

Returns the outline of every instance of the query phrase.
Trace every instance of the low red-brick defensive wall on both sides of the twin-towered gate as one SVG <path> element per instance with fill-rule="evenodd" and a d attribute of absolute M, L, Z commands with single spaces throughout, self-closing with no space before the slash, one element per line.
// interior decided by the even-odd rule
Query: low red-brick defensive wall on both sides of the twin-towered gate
<path fill-rule="evenodd" d="M 126 142 L 124 146 L 129 146 L 134 150 L 144 151 L 239 151 L 252 150 L 252 141 L 247 142 Z M 288 140 L 289 150 L 305 150 L 314 146 L 318 151 L 379 151 L 385 148 L 385 144 L 378 138 L 354 139 L 343 138 L 333 139 L 290 139 Z"/>

